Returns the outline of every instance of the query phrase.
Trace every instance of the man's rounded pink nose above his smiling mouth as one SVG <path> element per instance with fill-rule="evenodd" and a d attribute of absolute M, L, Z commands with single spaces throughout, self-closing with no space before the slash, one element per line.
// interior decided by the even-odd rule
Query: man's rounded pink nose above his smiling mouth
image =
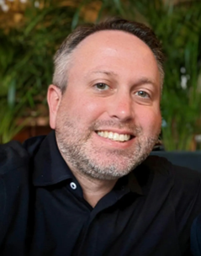
<path fill-rule="evenodd" d="M 120 121 L 133 118 L 133 102 L 129 93 L 117 93 L 110 99 L 108 104 L 108 115 Z"/>

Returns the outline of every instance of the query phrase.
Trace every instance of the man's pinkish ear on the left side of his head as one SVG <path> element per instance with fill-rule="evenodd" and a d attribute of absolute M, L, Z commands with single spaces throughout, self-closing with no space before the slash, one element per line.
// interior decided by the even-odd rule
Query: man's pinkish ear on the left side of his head
<path fill-rule="evenodd" d="M 47 102 L 50 112 L 50 127 L 56 128 L 56 115 L 61 103 L 61 89 L 51 84 L 47 91 Z"/>

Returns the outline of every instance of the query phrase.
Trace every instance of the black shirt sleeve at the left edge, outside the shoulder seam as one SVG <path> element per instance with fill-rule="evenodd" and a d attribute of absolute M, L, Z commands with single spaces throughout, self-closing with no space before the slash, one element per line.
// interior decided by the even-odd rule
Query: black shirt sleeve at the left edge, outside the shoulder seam
<path fill-rule="evenodd" d="M 29 198 L 33 195 L 34 154 L 40 147 L 41 141 L 43 137 L 35 137 L 23 144 L 10 141 L 0 145 L 0 246 L 8 232 L 8 227 L 11 227 L 9 225 L 13 225 L 14 232 L 21 233 L 23 230 L 22 222 L 28 217 L 26 209 L 29 207 Z M 19 223 L 18 228 L 16 225 Z"/>

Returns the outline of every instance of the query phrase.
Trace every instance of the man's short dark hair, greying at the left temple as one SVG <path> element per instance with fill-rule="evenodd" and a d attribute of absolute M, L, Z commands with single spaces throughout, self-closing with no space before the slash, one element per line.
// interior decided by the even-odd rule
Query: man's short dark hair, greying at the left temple
<path fill-rule="evenodd" d="M 83 25 L 75 29 L 70 35 L 66 37 L 60 48 L 56 51 L 54 56 L 55 72 L 53 75 L 53 84 L 61 88 L 64 93 L 67 86 L 67 67 L 70 62 L 72 51 L 74 51 L 79 43 L 88 35 L 92 35 L 98 31 L 103 30 L 120 30 L 131 35 L 135 35 L 148 45 L 153 52 L 156 62 L 161 73 L 161 86 L 164 79 L 163 62 L 164 55 L 161 51 L 161 43 L 156 38 L 153 30 L 135 21 L 129 21 L 120 18 L 110 18 L 99 24 Z"/>

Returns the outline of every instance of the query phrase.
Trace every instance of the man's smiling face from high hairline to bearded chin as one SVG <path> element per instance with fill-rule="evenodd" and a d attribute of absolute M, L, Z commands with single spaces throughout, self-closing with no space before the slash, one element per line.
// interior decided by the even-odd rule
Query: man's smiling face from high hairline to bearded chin
<path fill-rule="evenodd" d="M 117 179 L 149 155 L 161 130 L 156 59 L 134 35 L 106 30 L 83 40 L 71 60 L 66 92 L 56 99 L 49 88 L 58 147 L 72 171 Z"/>

